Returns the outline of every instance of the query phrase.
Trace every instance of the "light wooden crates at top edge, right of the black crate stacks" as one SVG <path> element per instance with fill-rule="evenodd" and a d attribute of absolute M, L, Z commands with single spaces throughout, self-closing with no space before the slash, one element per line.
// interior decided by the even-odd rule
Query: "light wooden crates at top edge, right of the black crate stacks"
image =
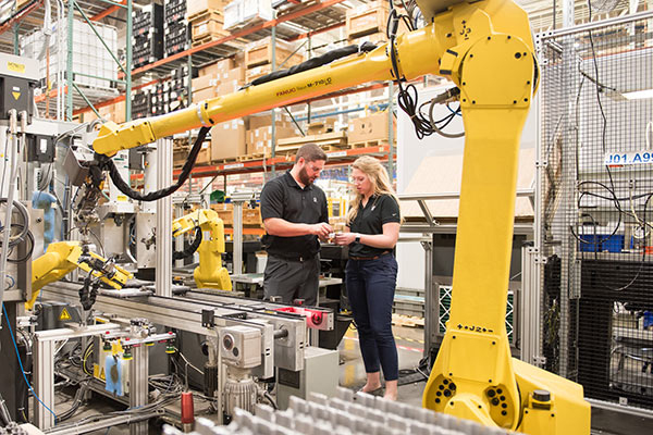
<path fill-rule="evenodd" d="M 189 0 L 186 16 L 190 22 L 193 45 L 198 46 L 227 35 L 223 29 L 223 0 Z"/>

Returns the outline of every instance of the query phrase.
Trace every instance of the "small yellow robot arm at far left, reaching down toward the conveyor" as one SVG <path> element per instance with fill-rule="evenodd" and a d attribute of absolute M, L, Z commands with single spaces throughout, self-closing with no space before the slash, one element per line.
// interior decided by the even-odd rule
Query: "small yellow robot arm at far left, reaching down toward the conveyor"
<path fill-rule="evenodd" d="M 32 297 L 25 302 L 25 308 L 32 310 L 41 288 L 77 268 L 115 289 L 121 289 L 133 277 L 121 266 L 85 249 L 79 241 L 53 243 L 48 245 L 46 253 L 32 262 Z"/>

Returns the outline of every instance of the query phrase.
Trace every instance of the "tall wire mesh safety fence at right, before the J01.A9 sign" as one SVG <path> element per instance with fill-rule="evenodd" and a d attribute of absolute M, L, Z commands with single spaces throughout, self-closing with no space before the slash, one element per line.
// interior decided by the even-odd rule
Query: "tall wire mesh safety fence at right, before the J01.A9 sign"
<path fill-rule="evenodd" d="M 653 20 L 540 35 L 542 355 L 653 408 Z"/>

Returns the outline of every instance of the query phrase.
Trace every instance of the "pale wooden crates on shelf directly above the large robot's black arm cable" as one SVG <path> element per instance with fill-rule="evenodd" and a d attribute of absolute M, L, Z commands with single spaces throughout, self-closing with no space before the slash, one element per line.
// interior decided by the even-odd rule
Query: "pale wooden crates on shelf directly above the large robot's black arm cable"
<path fill-rule="evenodd" d="M 274 65 L 276 70 L 285 70 L 304 62 L 301 54 L 295 53 L 295 46 L 291 42 L 276 39 L 274 47 Z M 272 38 L 267 37 L 249 44 L 245 48 L 245 66 L 247 72 L 245 80 L 254 79 L 272 72 Z"/>

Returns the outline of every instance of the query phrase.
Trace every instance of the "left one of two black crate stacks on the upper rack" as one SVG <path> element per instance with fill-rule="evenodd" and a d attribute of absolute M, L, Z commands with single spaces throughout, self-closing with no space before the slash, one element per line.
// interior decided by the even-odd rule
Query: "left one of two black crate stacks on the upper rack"
<path fill-rule="evenodd" d="M 132 64 L 145 66 L 163 58 L 163 7 L 151 3 L 132 12 Z"/>

